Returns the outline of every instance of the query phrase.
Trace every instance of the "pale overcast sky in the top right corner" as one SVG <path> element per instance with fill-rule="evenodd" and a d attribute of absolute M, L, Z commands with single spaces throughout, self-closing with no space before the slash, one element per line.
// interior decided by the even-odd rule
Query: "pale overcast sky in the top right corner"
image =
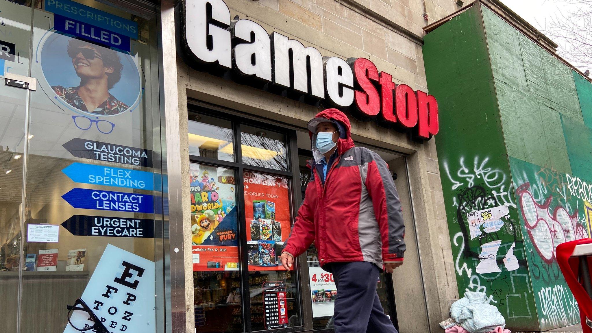
<path fill-rule="evenodd" d="M 580 5 L 567 4 L 564 0 L 500 0 L 520 17 L 524 18 L 533 27 L 545 33 L 552 18 L 559 13 L 568 15 L 571 11 L 577 11 Z M 546 34 L 548 36 L 548 34 Z M 559 44 L 558 53 L 561 54 L 567 47 L 564 46 L 561 40 L 550 37 L 555 43 Z M 572 65 L 577 66 L 582 71 L 585 71 L 587 66 L 572 62 Z"/>

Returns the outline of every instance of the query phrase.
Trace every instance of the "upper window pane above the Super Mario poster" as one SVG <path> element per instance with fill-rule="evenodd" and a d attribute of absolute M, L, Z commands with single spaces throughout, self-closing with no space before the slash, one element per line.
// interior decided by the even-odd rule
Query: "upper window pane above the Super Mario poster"
<path fill-rule="evenodd" d="M 234 135 L 230 121 L 191 113 L 188 130 L 189 155 L 234 161 Z"/>

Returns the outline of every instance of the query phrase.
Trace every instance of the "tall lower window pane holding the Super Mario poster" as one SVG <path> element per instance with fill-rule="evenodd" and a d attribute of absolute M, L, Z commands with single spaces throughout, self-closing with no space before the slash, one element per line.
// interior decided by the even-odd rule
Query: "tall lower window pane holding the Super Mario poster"
<path fill-rule="evenodd" d="M 189 165 L 195 327 L 242 332 L 235 172 Z"/>

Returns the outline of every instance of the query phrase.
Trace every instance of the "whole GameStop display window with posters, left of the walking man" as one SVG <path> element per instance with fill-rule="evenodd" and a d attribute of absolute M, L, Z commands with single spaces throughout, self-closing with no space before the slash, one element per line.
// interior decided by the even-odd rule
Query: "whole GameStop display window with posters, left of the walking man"
<path fill-rule="evenodd" d="M 295 132 L 189 109 L 197 332 L 301 327 L 299 270 L 279 259 L 300 191 Z"/>

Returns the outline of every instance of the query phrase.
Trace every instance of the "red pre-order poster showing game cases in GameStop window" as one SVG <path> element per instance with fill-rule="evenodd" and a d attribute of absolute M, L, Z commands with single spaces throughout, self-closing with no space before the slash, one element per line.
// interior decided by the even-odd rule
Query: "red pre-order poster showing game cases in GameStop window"
<path fill-rule="evenodd" d="M 288 178 L 245 171 L 243 181 L 249 270 L 284 270 L 279 257 L 291 230 Z"/>

